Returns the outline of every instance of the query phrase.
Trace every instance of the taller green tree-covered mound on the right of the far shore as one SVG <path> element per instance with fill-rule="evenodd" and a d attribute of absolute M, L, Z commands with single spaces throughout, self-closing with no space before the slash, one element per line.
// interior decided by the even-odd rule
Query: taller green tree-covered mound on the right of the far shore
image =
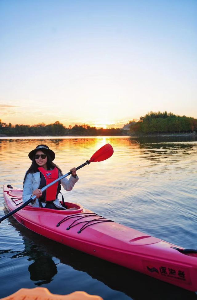
<path fill-rule="evenodd" d="M 197 119 L 173 113 L 150 112 L 132 122 L 131 134 L 191 133 L 197 130 Z"/>

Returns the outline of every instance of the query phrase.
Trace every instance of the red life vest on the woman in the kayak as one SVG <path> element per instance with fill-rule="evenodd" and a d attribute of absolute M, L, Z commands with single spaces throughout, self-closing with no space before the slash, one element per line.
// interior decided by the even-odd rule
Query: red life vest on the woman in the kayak
<path fill-rule="evenodd" d="M 42 187 L 53 182 L 59 177 L 58 168 L 56 167 L 54 167 L 53 170 L 45 170 L 43 167 L 39 167 L 38 170 L 40 171 L 39 189 L 42 189 Z M 40 197 L 41 202 L 56 200 L 58 193 L 60 191 L 58 186 L 60 186 L 61 188 L 60 182 L 56 182 L 52 186 L 48 187 L 48 189 L 46 189 L 46 191 L 44 191 L 42 193 L 42 196 Z"/>

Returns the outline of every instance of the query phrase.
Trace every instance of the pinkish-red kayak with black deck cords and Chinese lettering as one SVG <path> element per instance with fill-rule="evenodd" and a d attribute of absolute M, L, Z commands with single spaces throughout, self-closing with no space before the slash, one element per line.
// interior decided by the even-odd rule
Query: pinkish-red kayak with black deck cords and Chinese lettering
<path fill-rule="evenodd" d="M 23 204 L 22 190 L 4 185 L 9 212 Z M 76 203 L 53 210 L 25 206 L 13 214 L 30 230 L 56 242 L 154 278 L 197 291 L 197 250 L 154 238 L 108 220 Z"/>

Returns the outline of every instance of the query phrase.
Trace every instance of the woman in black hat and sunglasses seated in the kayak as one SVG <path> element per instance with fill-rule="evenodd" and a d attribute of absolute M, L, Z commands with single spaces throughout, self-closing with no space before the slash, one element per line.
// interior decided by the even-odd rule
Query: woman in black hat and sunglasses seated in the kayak
<path fill-rule="evenodd" d="M 60 192 L 61 184 L 65 190 L 72 190 L 79 179 L 76 174 L 76 168 L 70 169 L 72 174 L 69 180 L 67 178 L 63 178 L 61 180 L 61 184 L 59 181 L 42 193 L 42 187 L 61 177 L 63 175 L 62 171 L 53 162 L 55 153 L 46 145 L 38 145 L 34 150 L 30 151 L 28 156 L 32 160 L 32 164 L 27 170 L 23 182 L 23 202 L 26 202 L 35 195 L 36 200 L 31 202 L 31 205 L 34 207 L 65 210 L 66 206 L 63 207 L 61 205 L 58 199 L 58 193 Z M 62 201 L 64 204 L 63 196 Z M 70 208 L 69 210 L 74 209 Z"/>

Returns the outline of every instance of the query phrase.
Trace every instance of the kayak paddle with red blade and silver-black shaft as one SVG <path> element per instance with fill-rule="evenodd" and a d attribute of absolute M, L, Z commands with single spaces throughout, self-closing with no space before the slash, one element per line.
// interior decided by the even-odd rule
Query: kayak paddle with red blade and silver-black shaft
<path fill-rule="evenodd" d="M 76 169 L 79 170 L 82 167 L 89 165 L 90 162 L 102 162 L 103 160 L 106 160 L 107 158 L 110 158 L 111 155 L 114 153 L 114 150 L 110 144 L 106 144 L 100 149 L 98 149 L 90 158 L 90 160 L 86 160 L 81 166 L 78 166 Z M 65 175 L 62 175 L 58 179 L 54 180 L 53 182 L 47 184 L 44 186 L 41 191 L 44 192 L 46 189 L 48 189 L 50 186 L 54 185 L 56 182 L 62 180 L 63 178 L 69 176 L 72 174 L 72 172 L 68 172 Z M 29 200 L 27 200 L 25 203 L 23 203 L 20 207 L 16 208 L 15 210 L 10 211 L 10 213 L 6 214 L 4 217 L 0 218 L 0 223 L 5 220 L 6 218 L 10 217 L 12 214 L 15 214 L 18 210 L 21 210 L 23 207 L 28 205 L 30 202 L 34 201 L 36 199 L 36 195 L 31 197 Z"/>

